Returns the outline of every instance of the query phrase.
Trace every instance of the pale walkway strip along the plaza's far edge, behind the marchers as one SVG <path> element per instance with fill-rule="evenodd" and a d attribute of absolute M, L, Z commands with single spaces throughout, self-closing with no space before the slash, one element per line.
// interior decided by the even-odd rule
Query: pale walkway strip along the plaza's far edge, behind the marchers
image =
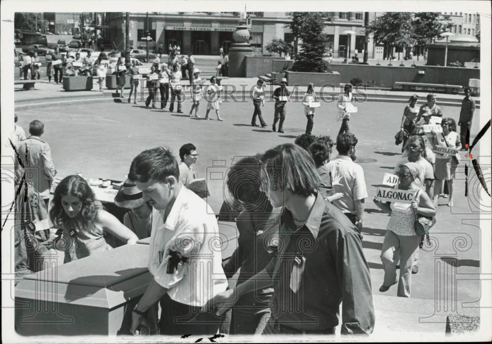
<path fill-rule="evenodd" d="M 223 98 L 241 97 L 245 98 L 249 96 L 252 87 L 256 84 L 256 78 L 229 78 L 223 79 L 222 85 L 224 86 Z M 187 80 L 183 80 L 182 84 L 185 86 L 186 94 L 187 86 L 189 85 Z M 147 96 L 147 89 L 144 88 L 142 93 L 142 83 L 139 86 L 139 95 Z M 267 101 L 270 101 L 273 91 L 277 88 L 277 85 L 267 85 L 266 97 Z M 304 93 L 307 91 L 307 86 L 287 86 L 287 88 L 293 94 L 295 101 L 302 101 Z M 314 91 L 323 96 L 326 101 L 333 101 L 334 96 L 341 92 L 340 87 L 326 86 L 326 87 L 314 87 Z M 91 91 L 64 91 L 62 85 L 55 83 L 40 82 L 35 84 L 35 89 L 30 91 L 22 90 L 22 85 L 16 85 L 14 90 L 14 102 L 16 110 L 24 110 L 27 108 L 37 107 L 49 107 L 56 105 L 71 105 L 79 104 L 88 101 L 113 101 L 116 98 L 116 90 L 110 90 L 103 88 L 103 91 L 99 91 L 99 85 L 94 80 L 93 88 Z M 406 91 L 392 91 L 388 88 L 378 89 L 356 89 L 355 93 L 360 95 L 360 101 L 378 101 L 378 102 L 395 102 L 395 103 L 407 103 L 410 93 L 416 93 L 420 96 L 420 101 L 423 101 L 427 96 L 427 92 L 406 92 Z M 129 89 L 124 91 L 125 97 L 129 94 Z M 462 94 L 437 94 L 438 104 L 449 106 L 461 106 Z M 121 98 L 123 101 L 126 99 Z M 225 100 L 225 99 L 224 99 Z M 359 102 L 360 102 L 359 101 Z M 420 102 L 419 101 L 419 102 Z M 480 98 L 476 97 L 477 108 L 480 108 Z"/>

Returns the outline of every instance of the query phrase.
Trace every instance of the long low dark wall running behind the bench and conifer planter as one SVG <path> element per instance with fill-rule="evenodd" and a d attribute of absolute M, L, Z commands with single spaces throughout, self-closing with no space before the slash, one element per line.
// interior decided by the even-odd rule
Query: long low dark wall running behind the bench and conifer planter
<path fill-rule="evenodd" d="M 293 61 L 274 60 L 271 71 L 289 70 L 292 68 L 292 64 Z M 393 84 L 397 81 L 468 86 L 469 79 L 480 79 L 480 69 L 477 68 L 438 66 L 399 67 L 397 61 L 393 61 L 393 64 L 396 65 L 372 66 L 333 63 L 331 69 L 334 72 L 340 73 L 341 83 L 349 83 L 350 80 L 359 78 L 363 82 L 374 81 L 374 86 L 380 87 L 393 87 Z M 424 71 L 424 74 L 418 74 L 418 71 Z"/>

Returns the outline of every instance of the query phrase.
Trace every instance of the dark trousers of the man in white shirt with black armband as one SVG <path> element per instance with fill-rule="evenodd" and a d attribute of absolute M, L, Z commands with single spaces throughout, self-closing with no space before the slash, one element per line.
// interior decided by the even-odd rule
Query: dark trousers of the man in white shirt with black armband
<path fill-rule="evenodd" d="M 169 295 L 160 299 L 160 334 L 168 336 L 206 335 L 217 333 L 221 317 L 201 313 L 201 307 L 189 306 L 172 300 Z"/>

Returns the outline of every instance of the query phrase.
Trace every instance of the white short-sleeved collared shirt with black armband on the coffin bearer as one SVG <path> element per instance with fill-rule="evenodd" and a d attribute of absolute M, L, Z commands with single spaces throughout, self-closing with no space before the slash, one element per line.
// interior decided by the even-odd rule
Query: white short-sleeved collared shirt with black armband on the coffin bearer
<path fill-rule="evenodd" d="M 215 213 L 184 185 L 167 219 L 164 212 L 152 212 L 149 271 L 155 282 L 168 288 L 171 299 L 201 307 L 227 288 L 222 255 L 215 244 L 219 241 Z M 187 258 L 180 261 L 172 274 L 167 273 L 170 251 Z"/>

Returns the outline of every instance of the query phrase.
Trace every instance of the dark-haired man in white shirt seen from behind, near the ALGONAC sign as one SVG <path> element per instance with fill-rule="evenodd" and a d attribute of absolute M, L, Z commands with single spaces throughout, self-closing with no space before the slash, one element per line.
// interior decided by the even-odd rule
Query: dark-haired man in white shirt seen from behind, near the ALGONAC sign
<path fill-rule="evenodd" d="M 326 166 L 332 178 L 334 194 L 343 196 L 333 201 L 359 232 L 363 228 L 364 200 L 368 197 L 364 170 L 354 160 L 357 138 L 352 133 L 342 133 L 337 138 L 338 155 Z"/>

